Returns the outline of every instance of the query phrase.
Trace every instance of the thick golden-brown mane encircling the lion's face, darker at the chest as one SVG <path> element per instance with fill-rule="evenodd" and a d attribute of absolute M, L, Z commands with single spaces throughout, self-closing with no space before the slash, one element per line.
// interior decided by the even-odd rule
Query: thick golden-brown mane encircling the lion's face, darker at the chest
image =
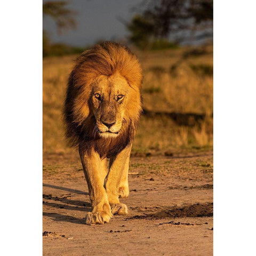
<path fill-rule="evenodd" d="M 91 84 L 100 75 L 110 76 L 117 71 L 126 79 L 137 97 L 134 97 L 133 102 L 129 102 L 126 118 L 123 120 L 122 136 L 107 140 L 100 138 L 94 132 L 95 118 L 89 101 Z M 94 146 L 101 157 L 111 157 L 129 145 L 137 130 L 142 110 L 141 83 L 142 70 L 139 60 L 127 47 L 113 42 L 104 42 L 83 52 L 76 59 L 69 76 L 63 110 L 66 137 L 71 146 L 79 144 L 84 149 Z"/>

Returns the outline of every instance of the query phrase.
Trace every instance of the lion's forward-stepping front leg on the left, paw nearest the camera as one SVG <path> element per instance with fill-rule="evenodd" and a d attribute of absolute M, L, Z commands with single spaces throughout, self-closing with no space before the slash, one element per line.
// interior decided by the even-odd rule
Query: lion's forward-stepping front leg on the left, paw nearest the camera
<path fill-rule="evenodd" d="M 105 172 L 102 172 L 100 156 L 94 150 L 87 154 L 81 147 L 79 147 L 79 154 L 92 203 L 92 212 L 87 213 L 85 222 L 89 225 L 109 222 L 113 214 L 111 213 L 108 196 L 103 186 Z"/>

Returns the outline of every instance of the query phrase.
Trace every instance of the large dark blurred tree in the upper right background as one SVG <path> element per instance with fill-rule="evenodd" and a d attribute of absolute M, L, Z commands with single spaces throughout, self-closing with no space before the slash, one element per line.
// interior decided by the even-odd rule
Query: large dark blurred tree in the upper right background
<path fill-rule="evenodd" d="M 131 42 L 139 47 L 168 41 L 177 32 L 212 27 L 213 0 L 149 0 L 147 3 L 146 10 L 126 24 Z"/>

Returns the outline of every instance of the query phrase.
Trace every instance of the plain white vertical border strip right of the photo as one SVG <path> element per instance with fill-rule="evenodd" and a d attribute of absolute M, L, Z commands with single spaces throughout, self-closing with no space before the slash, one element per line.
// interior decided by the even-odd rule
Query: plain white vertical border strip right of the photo
<path fill-rule="evenodd" d="M 214 1 L 214 255 L 255 255 L 255 2 Z"/>

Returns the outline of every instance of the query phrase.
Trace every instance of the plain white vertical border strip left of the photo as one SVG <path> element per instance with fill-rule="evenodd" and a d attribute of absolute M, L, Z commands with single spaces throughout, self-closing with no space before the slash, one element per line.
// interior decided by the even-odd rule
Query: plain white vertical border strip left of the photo
<path fill-rule="evenodd" d="M 1 255 L 42 255 L 42 2 L 1 2 Z"/>

